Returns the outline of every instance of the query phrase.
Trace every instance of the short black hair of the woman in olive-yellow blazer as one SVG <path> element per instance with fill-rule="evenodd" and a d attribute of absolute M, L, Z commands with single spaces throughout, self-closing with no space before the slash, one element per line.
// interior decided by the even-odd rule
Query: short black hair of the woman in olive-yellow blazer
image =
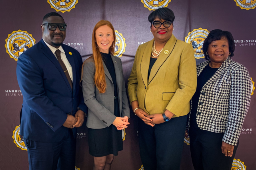
<path fill-rule="evenodd" d="M 174 13 L 169 8 L 158 8 L 157 10 L 151 12 L 148 16 L 148 21 L 152 23 L 156 18 L 160 20 L 172 20 L 175 19 Z"/>

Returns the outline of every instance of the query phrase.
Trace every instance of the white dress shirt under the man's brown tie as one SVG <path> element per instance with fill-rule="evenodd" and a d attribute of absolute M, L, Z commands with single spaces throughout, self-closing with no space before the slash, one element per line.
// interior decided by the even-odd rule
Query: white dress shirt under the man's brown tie
<path fill-rule="evenodd" d="M 44 39 L 43 39 L 44 40 Z M 65 51 L 62 49 L 62 47 L 60 46 L 58 49 L 56 49 L 55 47 L 52 47 L 51 45 L 47 44 L 45 41 L 44 43 L 49 47 L 49 49 L 52 51 L 52 53 L 54 54 L 54 56 L 56 57 L 55 51 L 56 50 L 60 50 L 60 57 L 61 60 L 63 61 L 63 63 L 65 64 L 67 70 L 68 70 L 68 74 L 73 82 L 73 72 L 72 72 L 72 66 L 70 65 L 70 63 L 68 62 L 68 59 L 65 55 Z M 56 57 L 57 59 L 57 57 Z M 58 60 L 58 59 L 57 59 Z"/>

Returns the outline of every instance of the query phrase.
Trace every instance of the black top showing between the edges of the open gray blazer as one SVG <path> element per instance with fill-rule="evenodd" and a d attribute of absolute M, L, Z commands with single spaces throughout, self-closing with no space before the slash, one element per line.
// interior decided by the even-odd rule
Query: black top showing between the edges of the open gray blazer
<path fill-rule="evenodd" d="M 102 56 L 102 60 L 103 60 L 104 64 L 108 68 L 108 72 L 112 78 L 112 81 L 114 84 L 114 96 L 118 96 L 117 85 L 116 85 L 116 72 L 115 72 L 115 67 L 114 67 L 112 58 L 111 58 L 110 54 L 106 54 L 106 53 L 100 53 L 100 54 Z M 114 115 L 117 117 L 120 117 L 118 101 L 119 101 L 118 99 L 114 100 Z"/>

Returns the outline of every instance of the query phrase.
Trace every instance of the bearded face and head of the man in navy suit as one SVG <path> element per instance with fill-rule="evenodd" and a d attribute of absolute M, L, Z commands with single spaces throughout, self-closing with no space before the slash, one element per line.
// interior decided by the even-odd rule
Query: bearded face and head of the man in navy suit
<path fill-rule="evenodd" d="M 50 16 L 44 23 L 64 23 L 64 20 L 58 16 Z M 48 25 L 41 25 L 41 28 L 44 41 L 53 47 L 58 48 L 66 38 L 66 30 L 60 31 L 58 26 L 54 31 L 49 30 Z"/>

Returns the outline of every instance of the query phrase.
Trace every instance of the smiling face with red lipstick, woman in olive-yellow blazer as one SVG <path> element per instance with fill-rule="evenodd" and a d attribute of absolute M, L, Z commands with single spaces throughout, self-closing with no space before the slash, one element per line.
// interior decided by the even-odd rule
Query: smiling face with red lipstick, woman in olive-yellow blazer
<path fill-rule="evenodd" d="M 160 21 L 163 23 L 165 20 L 155 18 L 154 21 Z M 152 34 L 154 35 L 155 41 L 159 43 L 166 42 L 172 36 L 173 25 L 171 24 L 170 27 L 168 28 L 164 27 L 163 24 L 159 28 L 155 28 L 154 25 L 151 25 L 151 31 Z"/>

